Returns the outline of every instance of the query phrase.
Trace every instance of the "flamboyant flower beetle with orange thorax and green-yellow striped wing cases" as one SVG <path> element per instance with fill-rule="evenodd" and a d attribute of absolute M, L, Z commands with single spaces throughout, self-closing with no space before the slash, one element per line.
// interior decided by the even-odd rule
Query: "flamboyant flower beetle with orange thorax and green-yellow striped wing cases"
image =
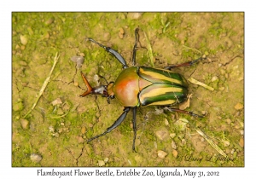
<path fill-rule="evenodd" d="M 197 61 L 201 61 L 206 58 L 199 58 L 195 61 L 188 61 L 178 65 L 166 66 L 164 69 L 153 68 L 148 66 L 135 66 L 136 65 L 136 53 L 137 43 L 139 42 L 139 28 L 135 30 L 135 43 L 132 50 L 132 66 L 129 67 L 122 55 L 114 49 L 103 45 L 102 43 L 96 42 L 92 38 L 87 38 L 92 43 L 96 43 L 98 46 L 105 49 L 108 53 L 112 54 L 122 65 L 123 70 L 119 73 L 118 78 L 115 82 L 110 82 L 107 85 L 99 85 L 91 87 L 88 80 L 86 79 L 83 72 L 81 76 L 84 80 L 84 84 L 87 90 L 79 95 L 84 97 L 86 95 L 102 95 L 110 99 L 116 98 L 119 103 L 125 107 L 124 112 L 119 118 L 105 130 L 102 134 L 91 137 L 87 142 L 90 142 L 101 136 L 105 136 L 110 131 L 115 129 L 121 124 L 127 113 L 132 110 L 133 113 L 133 143 L 132 151 L 135 150 L 135 141 L 137 136 L 137 107 L 148 107 L 148 106 L 159 106 L 169 107 L 168 110 L 171 112 L 186 113 L 197 118 L 203 118 L 204 116 L 180 110 L 178 108 L 172 108 L 171 106 L 181 103 L 187 100 L 189 84 L 183 75 L 172 72 L 172 68 L 180 66 L 191 66 Z"/>

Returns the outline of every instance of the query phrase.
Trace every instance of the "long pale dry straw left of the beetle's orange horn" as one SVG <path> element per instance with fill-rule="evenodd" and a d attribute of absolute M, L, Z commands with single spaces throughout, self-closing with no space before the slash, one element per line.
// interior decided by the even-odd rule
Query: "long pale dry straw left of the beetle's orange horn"
<path fill-rule="evenodd" d="M 49 75 L 48 75 L 48 77 L 44 80 L 44 84 L 43 84 L 41 90 L 40 90 L 39 93 L 38 93 L 38 97 L 37 97 L 35 103 L 33 104 L 33 106 L 31 107 L 31 109 L 29 110 L 29 112 L 27 112 L 26 115 L 25 115 L 23 118 L 26 118 L 28 114 L 32 113 L 32 110 L 37 106 L 38 101 L 39 101 L 41 95 L 43 95 L 44 90 L 45 90 L 47 84 L 49 83 L 49 79 L 50 79 L 50 77 L 51 77 L 52 72 L 53 72 L 54 69 L 55 69 L 55 65 L 56 65 L 57 61 L 59 60 L 59 58 L 60 58 L 60 55 L 58 55 L 58 52 L 56 52 L 55 59 L 54 59 L 54 64 L 53 64 L 53 66 L 51 67 L 51 70 L 50 70 L 50 72 L 49 72 Z"/>

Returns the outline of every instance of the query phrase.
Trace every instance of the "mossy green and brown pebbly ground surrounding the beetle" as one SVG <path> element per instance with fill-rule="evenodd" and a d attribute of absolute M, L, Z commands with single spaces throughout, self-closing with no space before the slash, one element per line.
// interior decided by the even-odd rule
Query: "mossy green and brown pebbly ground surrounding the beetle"
<path fill-rule="evenodd" d="M 134 30 L 140 27 L 137 65 L 163 67 L 207 55 L 207 61 L 174 69 L 212 86 L 214 91 L 189 84 L 190 107 L 206 118 L 177 113 L 154 114 L 154 107 L 137 113 L 137 153 L 131 150 L 132 114 L 107 136 L 86 143 L 105 131 L 122 113 L 116 100 L 91 95 L 79 70 L 70 58 L 84 55 L 82 71 L 92 85 L 100 74 L 114 81 L 121 64 L 104 49 L 84 38 L 117 49 L 131 66 Z M 13 13 L 12 58 L 12 165 L 13 166 L 243 166 L 244 103 L 244 14 L 242 13 Z M 125 32 L 119 35 L 122 30 Z M 154 61 L 149 61 L 148 43 Z M 26 39 L 27 42 L 20 40 Z M 60 59 L 51 80 L 32 113 L 23 118 L 36 100 L 53 65 Z M 74 85 L 79 83 L 79 86 Z M 80 87 L 80 88 L 79 88 Z M 52 105 L 61 98 L 62 104 Z M 146 114 L 148 117 L 145 119 Z M 233 161 L 216 161 L 218 152 L 192 126 L 177 127 L 178 118 L 187 118 L 203 130 Z M 24 122 L 25 121 L 25 122 Z M 167 122 L 166 122 L 167 121 Z M 161 141 L 158 130 L 175 134 Z M 173 155 L 175 142 L 177 157 Z M 157 151 L 167 153 L 164 159 Z M 33 163 L 32 153 L 43 157 Z M 208 157 L 212 157 L 207 161 Z M 199 163 L 193 159 L 203 158 Z"/>

